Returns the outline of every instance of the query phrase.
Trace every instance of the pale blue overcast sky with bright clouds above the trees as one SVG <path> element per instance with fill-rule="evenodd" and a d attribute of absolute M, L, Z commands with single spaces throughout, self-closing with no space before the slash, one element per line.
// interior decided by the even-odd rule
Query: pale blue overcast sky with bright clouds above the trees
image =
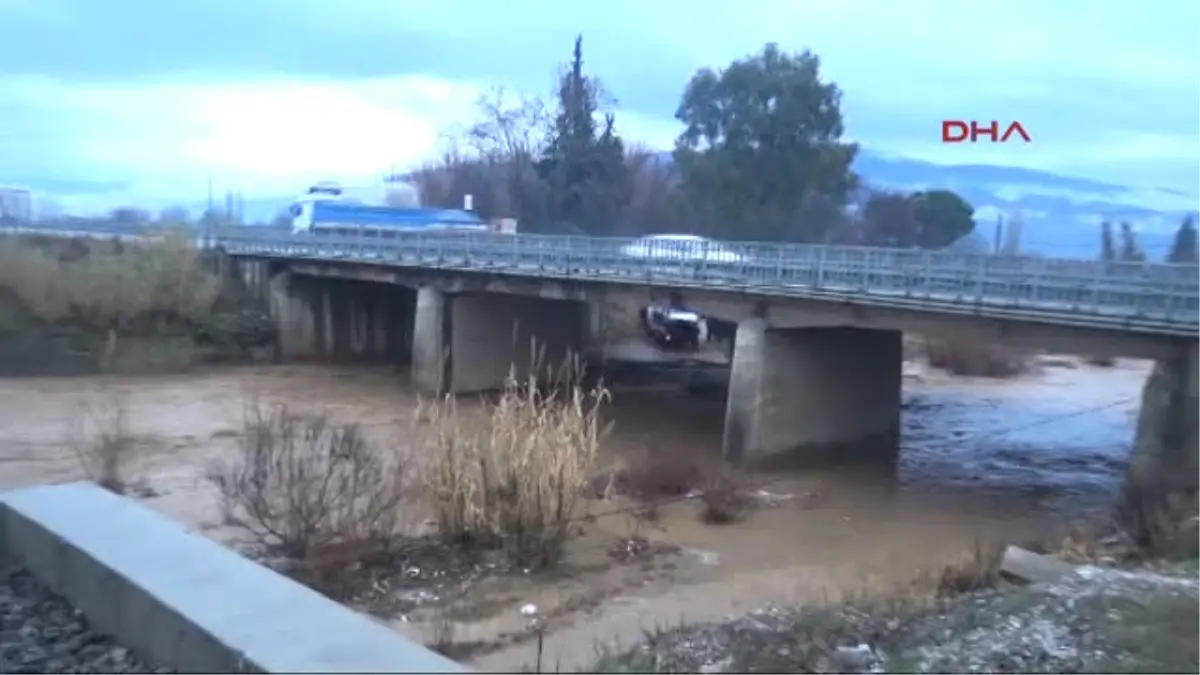
<path fill-rule="evenodd" d="M 868 148 L 1127 184 L 1200 180 L 1200 4 L 1166 0 L 0 0 L 0 183 L 156 203 L 413 166 L 492 85 L 542 94 L 584 36 L 626 138 L 688 77 L 821 55 Z M 1033 143 L 941 144 L 941 120 Z"/>

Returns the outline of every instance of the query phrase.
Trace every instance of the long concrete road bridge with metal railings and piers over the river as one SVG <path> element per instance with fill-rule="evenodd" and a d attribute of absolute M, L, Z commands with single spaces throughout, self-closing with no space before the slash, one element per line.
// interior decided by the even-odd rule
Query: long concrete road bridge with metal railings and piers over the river
<path fill-rule="evenodd" d="M 714 263 L 671 243 L 631 258 L 628 243 L 246 229 L 212 241 L 270 297 L 286 356 L 410 359 L 431 392 L 526 375 L 532 341 L 550 364 L 586 350 L 602 339 L 605 304 L 679 298 L 737 323 L 724 441 L 733 461 L 896 448 L 902 331 L 1156 359 L 1151 398 L 1166 402 L 1147 411 L 1162 419 L 1144 420 L 1139 442 L 1200 458 L 1200 269 L 730 243 L 739 262 Z"/>

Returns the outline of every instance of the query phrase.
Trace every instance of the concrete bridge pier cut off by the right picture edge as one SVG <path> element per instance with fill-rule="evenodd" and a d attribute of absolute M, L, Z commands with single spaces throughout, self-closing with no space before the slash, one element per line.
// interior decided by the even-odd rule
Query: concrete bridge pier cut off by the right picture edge
<path fill-rule="evenodd" d="M 1200 488 L 1200 345 L 1158 360 L 1146 378 L 1129 480 L 1151 490 Z"/>

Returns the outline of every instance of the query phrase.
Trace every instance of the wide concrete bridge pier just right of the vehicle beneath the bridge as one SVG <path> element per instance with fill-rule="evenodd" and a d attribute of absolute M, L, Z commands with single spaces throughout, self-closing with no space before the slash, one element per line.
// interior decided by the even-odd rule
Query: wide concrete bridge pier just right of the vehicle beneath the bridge
<path fill-rule="evenodd" d="M 894 462 L 900 447 L 901 334 L 738 324 L 725 458 L 775 466 Z"/>

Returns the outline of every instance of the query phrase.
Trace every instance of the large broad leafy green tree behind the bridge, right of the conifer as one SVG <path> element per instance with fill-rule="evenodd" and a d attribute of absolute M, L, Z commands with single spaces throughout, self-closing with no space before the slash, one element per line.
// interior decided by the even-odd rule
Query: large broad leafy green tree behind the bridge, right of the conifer
<path fill-rule="evenodd" d="M 696 229 L 736 239 L 824 241 L 857 187 L 841 91 L 811 52 L 776 44 L 704 68 L 684 89 L 676 166 Z"/>

